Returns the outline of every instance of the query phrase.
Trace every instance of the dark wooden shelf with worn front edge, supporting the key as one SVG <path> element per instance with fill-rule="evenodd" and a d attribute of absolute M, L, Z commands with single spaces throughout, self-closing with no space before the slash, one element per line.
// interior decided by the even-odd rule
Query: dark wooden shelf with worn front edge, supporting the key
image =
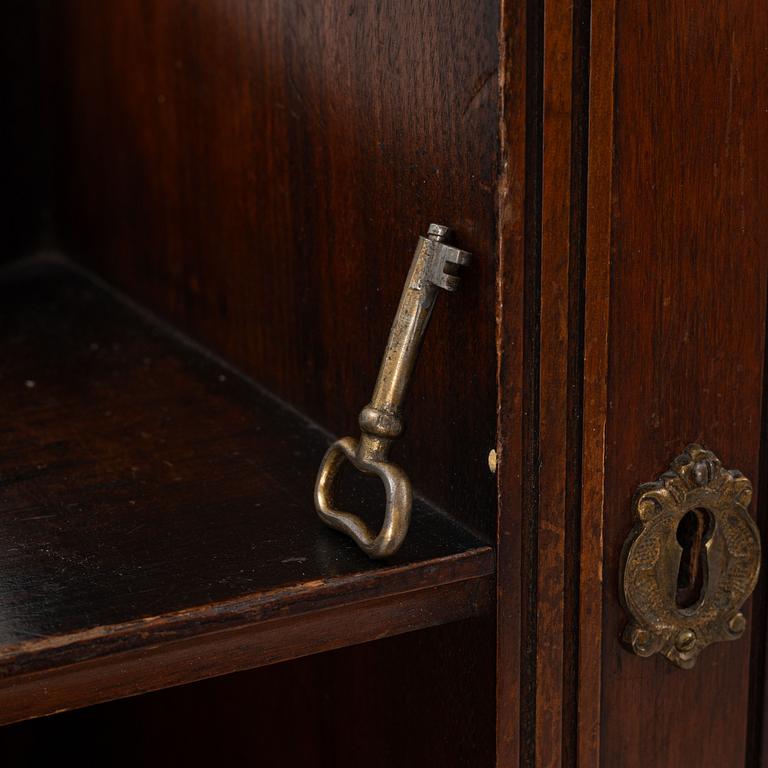
<path fill-rule="evenodd" d="M 1 723 L 489 609 L 491 548 L 417 501 L 369 560 L 323 432 L 65 264 L 6 269 L 0 348 Z"/>

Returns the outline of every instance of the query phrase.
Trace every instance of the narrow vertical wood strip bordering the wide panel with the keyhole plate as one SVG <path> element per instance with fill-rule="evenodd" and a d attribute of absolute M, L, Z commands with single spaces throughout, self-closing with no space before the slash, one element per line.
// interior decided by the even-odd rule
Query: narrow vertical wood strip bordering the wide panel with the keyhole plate
<path fill-rule="evenodd" d="M 615 5 L 592 4 L 584 317 L 577 764 L 600 765 L 605 428 L 613 168 Z"/>

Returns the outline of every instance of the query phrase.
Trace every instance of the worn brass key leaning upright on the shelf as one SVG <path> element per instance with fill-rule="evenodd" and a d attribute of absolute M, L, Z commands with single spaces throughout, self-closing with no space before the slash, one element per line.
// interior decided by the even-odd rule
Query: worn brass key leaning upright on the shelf
<path fill-rule="evenodd" d="M 402 404 L 438 288 L 455 291 L 459 266 L 470 254 L 448 245 L 448 227 L 430 224 L 419 237 L 411 269 L 400 297 L 395 321 L 381 362 L 371 402 L 360 412 L 360 440 L 344 437 L 326 452 L 315 483 L 315 508 L 320 518 L 351 536 L 370 557 L 388 557 L 400 548 L 411 521 L 413 495 L 408 475 L 387 461 L 393 440 L 403 431 Z M 367 475 L 378 475 L 387 493 L 384 524 L 377 535 L 357 516 L 335 509 L 333 484 L 348 459 Z"/>

